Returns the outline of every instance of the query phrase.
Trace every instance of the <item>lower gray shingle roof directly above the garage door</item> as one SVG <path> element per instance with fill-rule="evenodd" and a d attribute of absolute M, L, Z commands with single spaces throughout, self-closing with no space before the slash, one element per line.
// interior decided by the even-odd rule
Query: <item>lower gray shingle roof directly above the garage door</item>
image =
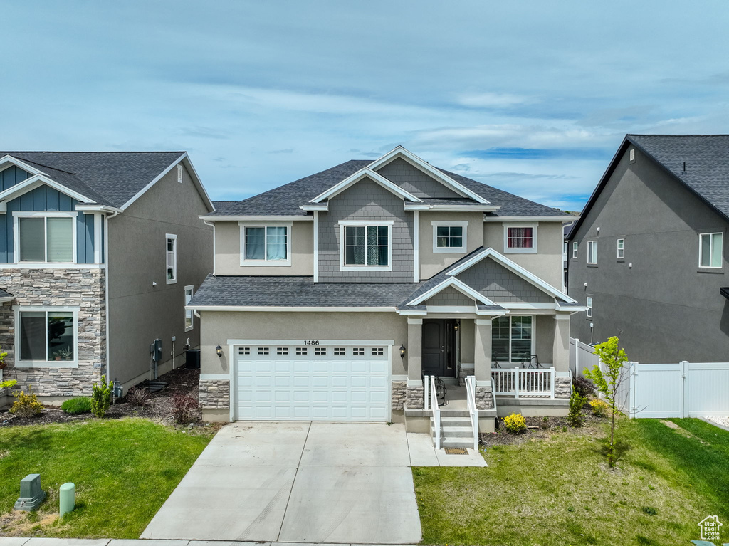
<path fill-rule="evenodd" d="M 315 283 L 313 277 L 208 275 L 188 305 L 396 307 L 418 283 Z"/>

